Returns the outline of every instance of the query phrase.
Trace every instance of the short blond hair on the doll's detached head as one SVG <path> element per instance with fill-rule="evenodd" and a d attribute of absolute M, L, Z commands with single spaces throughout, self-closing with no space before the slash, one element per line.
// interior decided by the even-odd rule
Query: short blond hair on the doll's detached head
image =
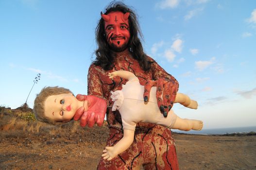
<path fill-rule="evenodd" d="M 39 94 L 36 95 L 36 98 L 34 100 L 34 115 L 35 118 L 39 121 L 49 123 L 49 124 L 60 124 L 59 122 L 53 121 L 45 116 L 45 101 L 49 96 L 52 95 L 59 95 L 63 93 L 71 93 L 73 94 L 69 89 L 63 88 L 63 87 L 44 87 Z"/>

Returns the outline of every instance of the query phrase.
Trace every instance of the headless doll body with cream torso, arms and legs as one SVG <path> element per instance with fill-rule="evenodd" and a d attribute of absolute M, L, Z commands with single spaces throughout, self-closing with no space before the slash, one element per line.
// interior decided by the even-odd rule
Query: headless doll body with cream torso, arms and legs
<path fill-rule="evenodd" d="M 122 85 L 121 90 L 111 92 L 111 99 L 114 101 L 112 111 L 119 110 L 122 119 L 123 137 L 113 147 L 105 147 L 103 158 L 111 160 L 119 153 L 122 153 L 132 144 L 137 122 L 148 122 L 159 124 L 167 128 L 179 130 L 201 130 L 203 122 L 200 120 L 181 119 L 172 110 L 167 118 L 164 118 L 157 106 L 155 97 L 156 87 L 150 91 L 149 102 L 144 103 L 144 86 L 139 84 L 138 78 L 129 71 L 119 70 L 109 73 L 110 78 L 119 76 L 129 81 Z M 197 102 L 189 99 L 187 95 L 177 93 L 175 101 L 186 107 L 197 109 Z"/>

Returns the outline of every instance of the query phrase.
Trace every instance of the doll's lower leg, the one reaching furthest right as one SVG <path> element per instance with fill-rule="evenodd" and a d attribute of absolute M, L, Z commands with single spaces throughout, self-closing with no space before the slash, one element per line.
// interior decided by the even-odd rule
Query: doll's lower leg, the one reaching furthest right
<path fill-rule="evenodd" d="M 177 119 L 171 129 L 179 129 L 182 131 L 190 131 L 192 130 L 202 130 L 203 121 L 201 120 L 193 120 L 193 119 L 181 119 L 177 116 Z"/>

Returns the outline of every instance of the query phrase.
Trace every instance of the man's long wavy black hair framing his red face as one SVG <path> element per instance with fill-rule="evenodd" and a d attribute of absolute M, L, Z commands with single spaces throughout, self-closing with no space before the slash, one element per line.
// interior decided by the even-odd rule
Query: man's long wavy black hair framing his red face
<path fill-rule="evenodd" d="M 137 21 L 137 15 L 128 6 L 119 1 L 112 1 L 107 6 L 105 15 L 110 12 L 120 11 L 122 13 L 129 12 L 129 27 L 130 27 L 130 41 L 128 43 L 128 48 L 132 56 L 138 61 L 141 68 L 144 71 L 148 71 L 151 68 L 151 62 L 147 60 L 147 55 L 143 51 L 142 44 L 138 38 L 138 34 L 141 38 L 143 35 L 140 31 L 139 24 Z M 96 59 L 93 62 L 96 66 L 101 66 L 104 70 L 110 70 L 113 68 L 113 62 L 115 57 L 115 52 L 109 48 L 109 45 L 105 38 L 104 20 L 101 18 L 95 30 L 96 41 L 98 44 L 98 49 L 95 51 Z"/>

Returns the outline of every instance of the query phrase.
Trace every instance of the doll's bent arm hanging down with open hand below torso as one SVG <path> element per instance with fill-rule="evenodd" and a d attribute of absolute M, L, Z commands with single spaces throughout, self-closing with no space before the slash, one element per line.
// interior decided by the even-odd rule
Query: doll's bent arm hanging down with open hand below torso
<path fill-rule="evenodd" d="M 102 157 L 103 159 L 107 159 L 110 161 L 119 153 L 124 152 L 128 149 L 134 140 L 134 131 L 129 129 L 123 130 L 123 137 L 115 146 L 106 146 L 105 150 L 103 151 Z"/>

